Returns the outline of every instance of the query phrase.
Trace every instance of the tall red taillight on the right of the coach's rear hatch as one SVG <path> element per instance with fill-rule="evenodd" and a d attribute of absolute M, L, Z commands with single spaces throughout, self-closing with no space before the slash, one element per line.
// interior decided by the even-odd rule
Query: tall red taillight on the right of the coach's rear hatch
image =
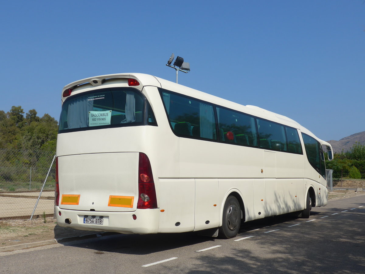
<path fill-rule="evenodd" d="M 155 184 L 153 182 L 150 160 L 139 152 L 138 162 L 138 203 L 137 208 L 157 208 Z"/>

